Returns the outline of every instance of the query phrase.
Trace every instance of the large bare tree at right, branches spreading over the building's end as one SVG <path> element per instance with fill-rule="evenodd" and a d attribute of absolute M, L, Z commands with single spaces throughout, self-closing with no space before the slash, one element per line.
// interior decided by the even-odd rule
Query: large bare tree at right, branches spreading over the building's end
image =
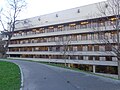
<path fill-rule="evenodd" d="M 111 48 L 111 54 L 118 59 L 118 79 L 120 79 L 120 0 L 108 0 L 97 4 L 99 19 L 92 27 L 98 34 L 98 41 Z M 108 25 L 109 24 L 109 25 Z M 110 31 L 112 30 L 112 31 Z M 106 34 L 105 32 L 111 32 Z"/>

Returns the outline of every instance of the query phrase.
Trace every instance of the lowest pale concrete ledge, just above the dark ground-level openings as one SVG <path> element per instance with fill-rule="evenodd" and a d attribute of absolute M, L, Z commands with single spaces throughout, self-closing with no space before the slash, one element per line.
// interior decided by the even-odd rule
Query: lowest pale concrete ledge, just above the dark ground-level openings
<path fill-rule="evenodd" d="M 11 56 L 9 58 L 14 59 L 23 59 L 23 60 L 34 60 L 34 61 L 43 61 L 43 62 L 54 62 L 54 63 L 65 63 L 64 59 L 48 59 L 48 58 L 32 58 L 32 57 L 16 57 Z M 80 65 L 106 65 L 106 66 L 118 66 L 117 62 L 113 61 L 92 61 L 92 60 L 69 60 L 66 59 L 66 63 L 71 64 L 80 64 Z"/>

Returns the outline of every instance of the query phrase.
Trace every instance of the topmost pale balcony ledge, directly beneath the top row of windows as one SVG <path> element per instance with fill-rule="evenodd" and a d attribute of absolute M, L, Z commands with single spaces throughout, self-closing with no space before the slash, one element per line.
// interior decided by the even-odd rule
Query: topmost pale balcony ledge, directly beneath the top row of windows
<path fill-rule="evenodd" d="M 107 30 L 113 30 L 114 28 L 113 28 L 113 26 L 106 26 L 105 28 L 104 27 L 95 27 L 95 28 L 92 28 L 92 27 L 75 27 L 75 28 L 69 28 L 69 27 L 65 27 L 65 28 L 63 28 L 63 29 L 61 29 L 61 30 L 59 30 L 59 29 L 55 29 L 55 30 L 52 30 L 52 31 L 47 31 L 47 30 L 44 30 L 43 32 L 32 32 L 32 31 L 26 31 L 25 33 L 23 32 L 23 33 L 18 33 L 18 34 L 14 34 L 13 35 L 13 39 L 15 39 L 15 38 L 25 38 L 25 37 L 27 37 L 27 36 L 36 36 L 36 35 L 42 35 L 43 33 L 44 34 L 47 34 L 47 33 L 61 33 L 61 32 L 65 32 L 65 31 L 68 31 L 68 32 L 70 32 L 70 31 L 72 31 L 72 30 L 76 30 L 76 31 L 79 31 L 79 30 L 81 30 L 80 32 L 81 33 L 85 33 L 85 32 L 97 32 L 98 31 L 98 28 L 101 30 L 101 31 L 107 31 Z M 88 29 L 87 31 L 86 31 L 86 29 Z M 94 29 L 94 30 L 93 30 Z M 22 31 L 21 31 L 22 32 Z M 79 33 L 80 33 L 79 32 Z M 6 40 L 7 39 L 7 36 L 5 36 L 4 37 L 4 40 Z"/>

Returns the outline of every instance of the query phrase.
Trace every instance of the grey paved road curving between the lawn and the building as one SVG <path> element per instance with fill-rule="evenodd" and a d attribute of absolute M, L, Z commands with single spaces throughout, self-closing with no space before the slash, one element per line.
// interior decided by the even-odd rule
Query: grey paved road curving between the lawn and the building
<path fill-rule="evenodd" d="M 36 62 L 17 61 L 23 71 L 23 90 L 120 90 L 120 81 Z"/>

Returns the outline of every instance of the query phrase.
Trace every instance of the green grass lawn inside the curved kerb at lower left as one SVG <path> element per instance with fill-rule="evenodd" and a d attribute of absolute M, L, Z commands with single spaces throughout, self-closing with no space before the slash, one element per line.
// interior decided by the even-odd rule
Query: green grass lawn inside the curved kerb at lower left
<path fill-rule="evenodd" d="M 0 61 L 0 90 L 20 90 L 20 69 L 11 62 Z"/>

